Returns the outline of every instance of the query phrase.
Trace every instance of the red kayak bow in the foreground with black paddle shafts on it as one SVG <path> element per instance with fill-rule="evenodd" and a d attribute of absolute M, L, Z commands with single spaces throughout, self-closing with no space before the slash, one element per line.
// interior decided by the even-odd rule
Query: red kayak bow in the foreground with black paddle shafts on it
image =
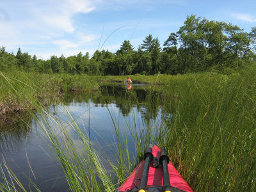
<path fill-rule="evenodd" d="M 144 160 L 142 160 L 129 177 L 127 177 L 125 182 L 117 189 L 117 192 L 193 192 L 187 182 L 182 178 L 179 172 L 177 172 L 173 164 L 169 162 L 168 156 L 165 155 L 164 148 L 162 148 L 161 152 L 156 145 L 149 147 L 143 158 Z M 152 161 L 153 158 L 154 162 Z M 159 166 L 156 165 L 157 163 L 155 164 L 157 160 L 159 160 Z M 147 165 L 148 162 L 150 162 L 149 165 Z M 149 168 L 147 166 L 149 166 Z M 146 180 L 145 177 L 147 177 Z"/>

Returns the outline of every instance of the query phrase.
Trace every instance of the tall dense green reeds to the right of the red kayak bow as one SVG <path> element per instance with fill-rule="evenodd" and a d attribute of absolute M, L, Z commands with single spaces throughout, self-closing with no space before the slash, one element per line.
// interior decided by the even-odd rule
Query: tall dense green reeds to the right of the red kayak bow
<path fill-rule="evenodd" d="M 164 145 L 195 191 L 255 191 L 255 65 L 229 76 L 194 74 L 172 81 L 173 113 Z"/>

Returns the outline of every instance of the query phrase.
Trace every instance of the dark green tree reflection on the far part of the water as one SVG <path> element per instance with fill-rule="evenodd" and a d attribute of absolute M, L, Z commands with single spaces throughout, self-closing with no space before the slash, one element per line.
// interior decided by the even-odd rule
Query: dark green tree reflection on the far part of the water
<path fill-rule="evenodd" d="M 140 111 L 141 117 L 145 121 L 156 119 L 159 112 L 166 113 L 164 120 L 172 114 L 169 111 L 172 100 L 164 100 L 161 90 L 150 90 L 141 86 L 133 86 L 127 90 L 123 85 L 104 85 L 100 87 L 100 92 L 93 93 L 67 93 L 63 97 L 64 104 L 72 102 L 93 102 L 95 106 L 104 107 L 106 104 L 116 104 L 123 116 L 128 116 L 132 108 Z M 159 106 L 162 106 L 161 110 Z M 164 106 L 168 106 L 165 108 Z M 171 115 L 172 116 L 172 115 Z"/>

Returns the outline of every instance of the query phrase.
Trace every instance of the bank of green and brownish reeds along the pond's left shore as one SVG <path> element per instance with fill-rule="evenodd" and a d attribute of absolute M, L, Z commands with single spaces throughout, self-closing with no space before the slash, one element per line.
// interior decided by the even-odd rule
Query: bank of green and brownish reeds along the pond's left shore
<path fill-rule="evenodd" d="M 52 104 L 65 91 L 92 92 L 98 87 L 93 76 L 0 72 L 0 115 L 28 111 L 35 102 Z"/>

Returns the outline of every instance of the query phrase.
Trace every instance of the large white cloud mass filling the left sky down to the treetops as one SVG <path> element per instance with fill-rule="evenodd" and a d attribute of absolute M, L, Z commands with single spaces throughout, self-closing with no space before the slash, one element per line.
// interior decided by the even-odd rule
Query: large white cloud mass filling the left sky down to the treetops
<path fill-rule="evenodd" d="M 77 13 L 92 12 L 93 4 L 93 0 L 1 2 L 0 46 L 8 52 L 16 52 L 20 47 L 22 52 L 44 59 L 56 51 L 67 56 L 71 52 L 77 54 L 81 50 L 74 49 L 81 49 L 81 45 L 97 38 L 76 28 L 74 22 Z"/>

